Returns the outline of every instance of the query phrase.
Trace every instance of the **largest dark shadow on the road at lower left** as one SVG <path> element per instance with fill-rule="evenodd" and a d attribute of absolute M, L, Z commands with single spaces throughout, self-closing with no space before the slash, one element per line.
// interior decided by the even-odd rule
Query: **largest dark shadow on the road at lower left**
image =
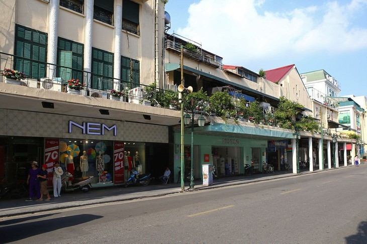
<path fill-rule="evenodd" d="M 30 236 L 82 224 L 102 217 L 103 216 L 93 214 L 79 214 L 5 226 L 0 228 L 0 242 L 6 243 L 21 240 Z"/>

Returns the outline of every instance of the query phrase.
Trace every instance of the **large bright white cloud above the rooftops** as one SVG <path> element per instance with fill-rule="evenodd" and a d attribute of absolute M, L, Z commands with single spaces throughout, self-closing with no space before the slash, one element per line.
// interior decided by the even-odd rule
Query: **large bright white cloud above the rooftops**
<path fill-rule="evenodd" d="M 264 0 L 201 0 L 190 6 L 188 25 L 178 33 L 223 56 L 225 63 L 239 65 L 319 51 L 355 51 L 367 48 L 367 29 L 352 26 L 354 13 L 366 6 L 367 0 L 347 5 L 334 1 L 260 14 L 259 7 L 266 9 Z"/>

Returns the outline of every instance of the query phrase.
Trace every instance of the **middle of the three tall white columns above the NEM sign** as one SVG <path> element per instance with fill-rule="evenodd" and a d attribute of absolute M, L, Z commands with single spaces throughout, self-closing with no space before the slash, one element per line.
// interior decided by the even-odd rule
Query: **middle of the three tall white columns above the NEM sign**
<path fill-rule="evenodd" d="M 92 32 L 93 32 L 93 5 L 94 0 L 84 0 L 85 8 L 85 27 L 84 27 L 84 71 L 91 72 L 92 55 Z M 84 83 L 90 88 L 90 73 L 84 73 Z"/>

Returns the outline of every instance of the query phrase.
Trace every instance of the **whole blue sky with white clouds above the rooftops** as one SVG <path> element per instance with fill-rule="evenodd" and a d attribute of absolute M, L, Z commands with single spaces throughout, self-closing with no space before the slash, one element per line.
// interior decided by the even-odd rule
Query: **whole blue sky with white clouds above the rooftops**
<path fill-rule="evenodd" d="M 169 0 L 175 33 L 254 72 L 324 69 L 339 95 L 367 96 L 367 0 Z"/>

